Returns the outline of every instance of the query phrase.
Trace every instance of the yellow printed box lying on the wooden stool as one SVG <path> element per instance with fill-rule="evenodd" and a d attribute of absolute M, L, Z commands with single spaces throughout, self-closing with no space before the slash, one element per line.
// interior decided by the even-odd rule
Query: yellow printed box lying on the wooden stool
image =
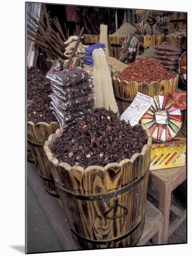
<path fill-rule="evenodd" d="M 149 170 L 159 170 L 185 166 L 186 137 L 179 132 L 172 141 L 152 143 Z"/>

